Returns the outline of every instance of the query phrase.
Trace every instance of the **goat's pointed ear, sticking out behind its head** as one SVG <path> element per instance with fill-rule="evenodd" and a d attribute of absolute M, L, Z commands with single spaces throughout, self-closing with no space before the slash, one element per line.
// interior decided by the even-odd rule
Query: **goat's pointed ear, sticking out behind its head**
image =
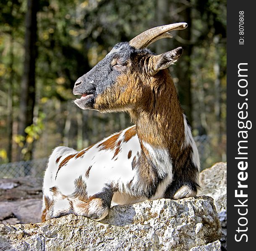
<path fill-rule="evenodd" d="M 163 54 L 152 56 L 152 71 L 153 75 L 162 69 L 168 68 L 174 64 L 182 55 L 183 49 L 178 47 L 172 51 L 167 51 Z"/>

